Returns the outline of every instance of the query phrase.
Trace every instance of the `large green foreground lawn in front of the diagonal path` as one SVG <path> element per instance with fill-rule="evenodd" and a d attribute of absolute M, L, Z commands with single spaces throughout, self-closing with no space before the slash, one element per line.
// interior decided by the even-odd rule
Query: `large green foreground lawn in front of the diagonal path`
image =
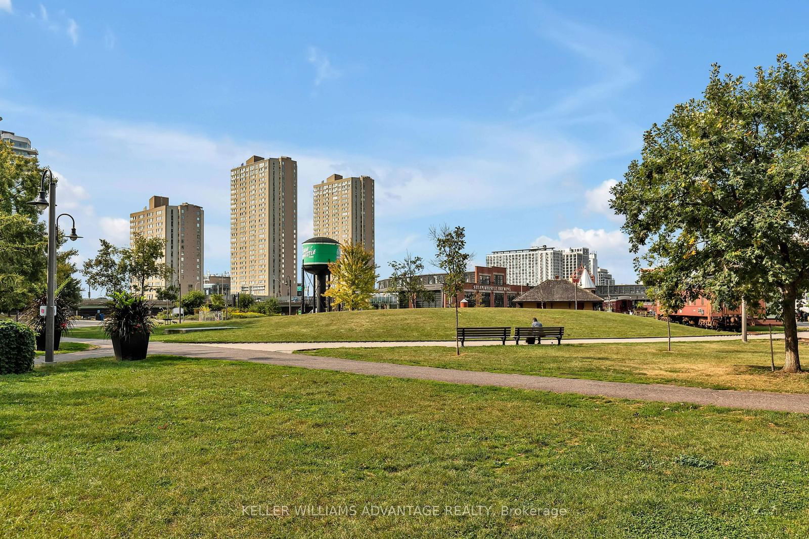
<path fill-rule="evenodd" d="M 807 463 L 803 414 L 167 357 L 0 376 L 12 537 L 806 537 Z M 359 514 L 244 514 L 306 504 Z"/>

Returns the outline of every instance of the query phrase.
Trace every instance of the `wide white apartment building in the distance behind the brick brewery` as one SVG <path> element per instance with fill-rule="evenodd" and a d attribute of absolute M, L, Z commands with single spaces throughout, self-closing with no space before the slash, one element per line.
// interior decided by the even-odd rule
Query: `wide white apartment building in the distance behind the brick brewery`
<path fill-rule="evenodd" d="M 486 255 L 486 265 L 506 268 L 510 284 L 536 286 L 548 279 L 566 279 L 584 265 L 595 278 L 598 259 L 587 247 L 557 249 L 542 245 Z"/>

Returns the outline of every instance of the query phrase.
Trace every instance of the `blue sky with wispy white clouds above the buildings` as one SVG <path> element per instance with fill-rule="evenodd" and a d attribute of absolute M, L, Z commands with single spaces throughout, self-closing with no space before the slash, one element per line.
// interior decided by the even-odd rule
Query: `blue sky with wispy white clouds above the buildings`
<path fill-rule="evenodd" d="M 316 3 L 0 0 L 0 128 L 61 176 L 82 257 L 159 194 L 205 208 L 205 269 L 226 271 L 229 169 L 289 155 L 301 240 L 311 185 L 375 178 L 380 274 L 448 223 L 481 263 L 586 245 L 634 282 L 607 188 L 643 130 L 712 62 L 809 52 L 798 2 Z"/>

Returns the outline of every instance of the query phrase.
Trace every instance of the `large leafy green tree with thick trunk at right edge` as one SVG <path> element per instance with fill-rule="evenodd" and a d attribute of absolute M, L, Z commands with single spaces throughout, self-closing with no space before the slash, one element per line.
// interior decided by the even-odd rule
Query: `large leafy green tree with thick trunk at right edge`
<path fill-rule="evenodd" d="M 809 287 L 809 56 L 722 76 L 644 135 L 612 189 L 642 281 L 673 303 L 781 303 L 783 371 L 801 370 L 795 300 Z M 676 305 L 675 305 L 676 306 Z"/>

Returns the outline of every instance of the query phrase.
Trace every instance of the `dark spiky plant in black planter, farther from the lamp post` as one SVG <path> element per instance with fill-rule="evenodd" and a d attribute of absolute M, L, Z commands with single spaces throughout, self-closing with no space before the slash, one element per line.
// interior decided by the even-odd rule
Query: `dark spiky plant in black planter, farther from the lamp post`
<path fill-rule="evenodd" d="M 149 335 L 155 329 L 151 305 L 142 295 L 113 292 L 104 317 L 104 334 L 112 341 L 116 359 L 145 359 Z"/>

